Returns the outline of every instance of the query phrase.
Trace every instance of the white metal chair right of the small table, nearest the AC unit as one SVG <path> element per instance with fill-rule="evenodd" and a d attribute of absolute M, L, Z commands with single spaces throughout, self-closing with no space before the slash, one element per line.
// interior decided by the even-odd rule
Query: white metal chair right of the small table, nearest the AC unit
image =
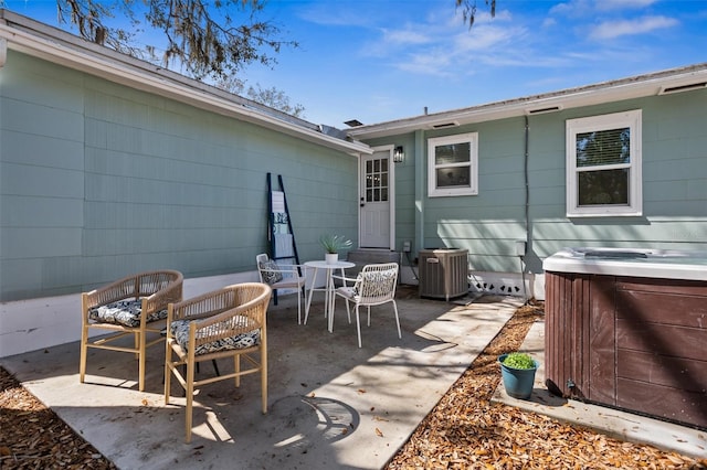
<path fill-rule="evenodd" d="M 402 338 L 400 332 L 400 319 L 398 317 L 398 305 L 395 303 L 395 286 L 398 284 L 398 263 L 386 263 L 366 265 L 356 278 L 333 276 L 333 278 L 344 281 L 342 287 L 335 291 L 336 296 L 346 300 L 346 312 L 349 314 L 349 302 L 356 306 L 356 330 L 358 333 L 358 346 L 361 348 L 361 323 L 358 308 L 368 308 L 368 325 L 371 325 L 371 306 L 392 302 L 395 312 L 395 324 L 398 325 L 398 338 Z M 349 282 L 354 282 L 349 286 Z M 336 303 L 336 302 L 335 302 Z M 331 312 L 334 316 L 334 311 Z"/>

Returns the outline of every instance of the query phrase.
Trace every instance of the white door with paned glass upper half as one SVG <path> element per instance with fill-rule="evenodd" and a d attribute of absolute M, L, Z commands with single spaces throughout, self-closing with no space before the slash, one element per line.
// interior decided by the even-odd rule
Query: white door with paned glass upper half
<path fill-rule="evenodd" d="M 361 248 L 391 248 L 392 149 L 361 157 Z"/>

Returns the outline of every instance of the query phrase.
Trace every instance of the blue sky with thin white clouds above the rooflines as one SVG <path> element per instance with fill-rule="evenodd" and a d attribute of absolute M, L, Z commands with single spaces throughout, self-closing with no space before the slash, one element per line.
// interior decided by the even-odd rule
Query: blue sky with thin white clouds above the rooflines
<path fill-rule="evenodd" d="M 56 25 L 53 0 L 6 4 Z M 707 62 L 704 0 L 477 4 L 469 30 L 454 0 L 270 0 L 263 18 L 300 45 L 243 77 L 345 128 Z"/>

